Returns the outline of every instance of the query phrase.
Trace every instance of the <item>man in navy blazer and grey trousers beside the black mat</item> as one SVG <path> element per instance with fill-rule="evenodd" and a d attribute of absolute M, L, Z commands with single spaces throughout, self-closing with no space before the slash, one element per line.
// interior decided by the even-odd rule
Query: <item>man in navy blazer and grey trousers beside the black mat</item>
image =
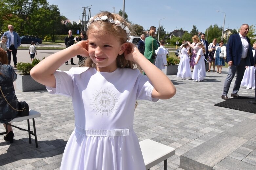
<path fill-rule="evenodd" d="M 230 84 L 236 73 L 236 80 L 231 93 L 231 97 L 238 98 L 241 81 L 245 73 L 245 66 L 254 66 L 252 48 L 250 45 L 250 39 L 246 37 L 249 31 L 249 25 L 243 24 L 240 28 L 238 34 L 233 34 L 228 39 L 227 43 L 227 58 L 226 62 L 228 63 L 229 70 L 227 78 L 224 83 L 223 93 L 221 98 L 224 100 L 230 100 L 227 97 L 227 93 L 230 87 Z"/>

